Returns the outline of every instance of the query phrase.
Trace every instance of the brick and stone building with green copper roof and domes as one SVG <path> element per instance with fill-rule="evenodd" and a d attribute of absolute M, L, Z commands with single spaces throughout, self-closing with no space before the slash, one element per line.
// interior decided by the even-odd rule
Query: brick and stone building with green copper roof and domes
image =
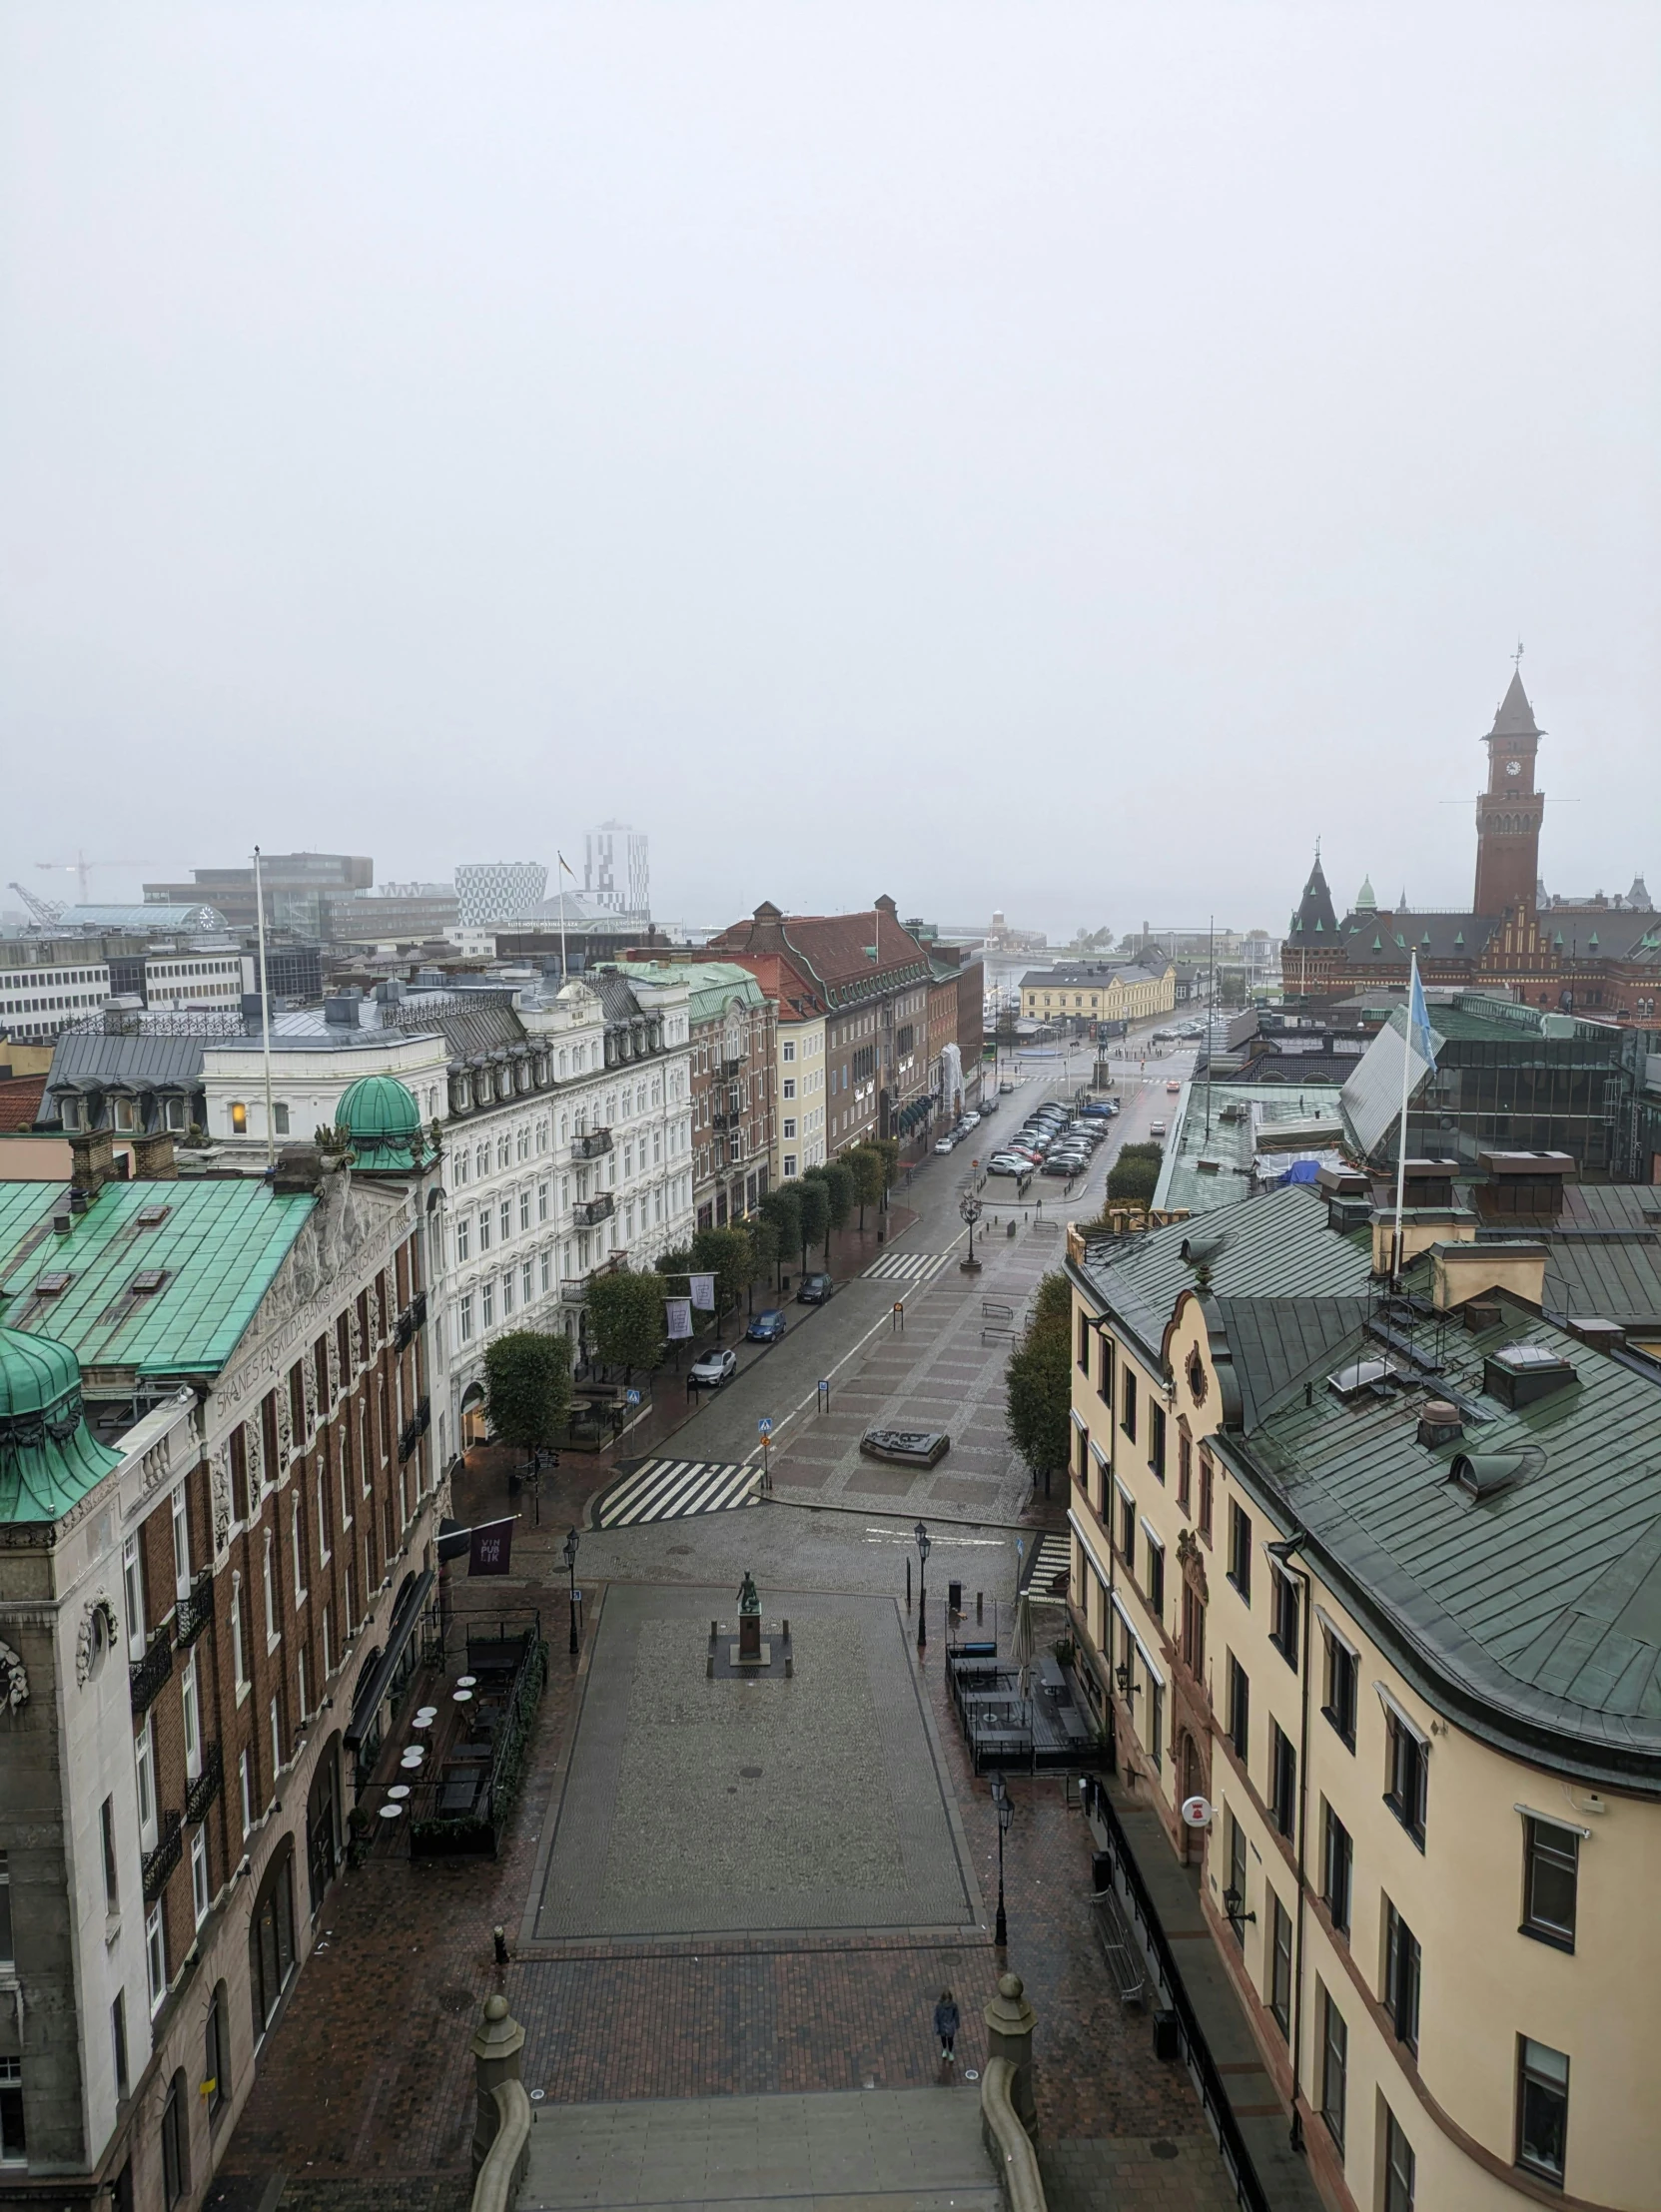
<path fill-rule="evenodd" d="M 0 2205 L 199 2205 L 312 1949 L 436 1584 L 403 1106 L 356 1166 L 0 1183 Z"/>

